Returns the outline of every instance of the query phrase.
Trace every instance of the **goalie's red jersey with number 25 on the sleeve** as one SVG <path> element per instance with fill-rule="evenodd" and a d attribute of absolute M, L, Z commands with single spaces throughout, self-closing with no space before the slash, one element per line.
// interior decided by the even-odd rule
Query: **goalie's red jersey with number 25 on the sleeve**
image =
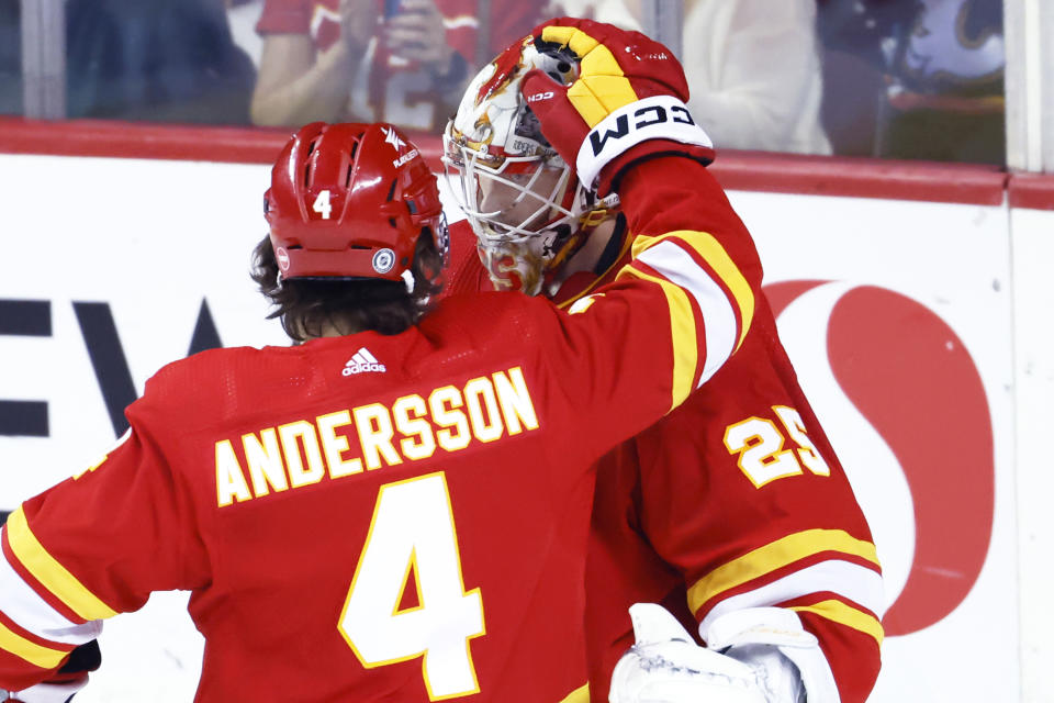
<path fill-rule="evenodd" d="M 671 169 L 664 180 L 682 178 Z M 695 198 L 670 205 L 693 209 L 730 248 L 735 237 L 749 239 L 713 177 L 691 178 Z M 630 222 L 613 238 L 621 250 L 608 253 L 601 270 L 573 275 L 557 301 L 570 305 L 613 280 L 631 256 L 632 234 Z M 451 227 L 451 242 L 460 255 L 456 289 L 489 289 L 467 222 Z M 633 644 L 627 609 L 637 602 L 662 603 L 704 633 L 732 610 L 793 609 L 820 641 L 825 656 L 809 674 L 826 682 L 823 700 L 867 698 L 881 662 L 881 568 L 763 295 L 739 350 L 706 386 L 601 460 L 592 521 L 592 701 L 607 701 L 612 670 Z"/>

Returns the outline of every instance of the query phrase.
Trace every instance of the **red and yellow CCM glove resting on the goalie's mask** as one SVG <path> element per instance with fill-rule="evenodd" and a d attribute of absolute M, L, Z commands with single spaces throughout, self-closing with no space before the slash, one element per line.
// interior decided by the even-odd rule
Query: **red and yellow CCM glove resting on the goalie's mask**
<path fill-rule="evenodd" d="M 570 86 L 535 69 L 522 91 L 542 134 L 587 188 L 606 194 L 614 174 L 602 175 L 604 167 L 649 140 L 693 145 L 698 160 L 713 160 L 713 143 L 684 104 L 688 83 L 669 48 L 640 32 L 572 18 L 550 20 L 532 36 L 539 52 L 570 52 L 580 63 Z"/>

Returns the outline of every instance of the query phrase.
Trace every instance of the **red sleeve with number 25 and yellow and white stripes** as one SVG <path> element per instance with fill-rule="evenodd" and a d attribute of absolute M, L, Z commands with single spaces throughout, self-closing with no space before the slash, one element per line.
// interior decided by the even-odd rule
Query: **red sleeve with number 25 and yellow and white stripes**
<path fill-rule="evenodd" d="M 862 703 L 881 666 L 882 569 L 845 472 L 775 345 L 751 337 L 705 393 L 638 437 L 642 528 L 682 574 L 704 640 L 735 611 L 792 610 L 822 652 L 796 662 L 804 674 L 823 700 Z"/>

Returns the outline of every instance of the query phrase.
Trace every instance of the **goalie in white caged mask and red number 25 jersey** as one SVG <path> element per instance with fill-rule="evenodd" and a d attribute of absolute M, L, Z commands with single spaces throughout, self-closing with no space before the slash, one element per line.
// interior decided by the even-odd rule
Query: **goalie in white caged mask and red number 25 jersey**
<path fill-rule="evenodd" d="M 691 116 L 625 92 L 623 70 L 649 60 L 676 63 L 642 35 L 564 18 L 470 85 L 445 134 L 468 217 L 452 227 L 453 250 L 471 252 L 471 225 L 494 288 L 575 304 L 618 277 L 641 242 L 626 215 L 661 192 L 657 207 L 708 233 L 696 254 L 710 289 L 736 290 L 726 272 L 742 265 L 750 235 L 714 178 L 691 158 L 666 157 L 662 141 Z M 674 94 L 686 100 L 686 86 Z M 579 148 L 558 120 L 563 135 L 584 122 L 590 141 Z M 625 141 L 663 167 L 612 194 L 593 158 Z M 684 156 L 706 164 L 713 154 L 697 145 Z M 487 287 L 480 260 L 455 263 L 456 289 Z M 874 685 L 884 602 L 871 533 L 767 302 L 753 303 L 735 356 L 598 467 L 584 615 L 595 702 L 608 700 L 613 671 L 616 703 L 859 703 Z"/>

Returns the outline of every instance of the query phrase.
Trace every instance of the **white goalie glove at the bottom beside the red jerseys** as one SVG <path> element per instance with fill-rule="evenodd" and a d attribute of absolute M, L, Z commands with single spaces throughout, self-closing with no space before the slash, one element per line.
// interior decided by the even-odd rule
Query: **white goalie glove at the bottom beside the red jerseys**
<path fill-rule="evenodd" d="M 636 644 L 612 673 L 610 703 L 798 703 L 797 669 L 775 648 L 726 656 L 695 644 L 664 607 L 629 609 Z"/>

